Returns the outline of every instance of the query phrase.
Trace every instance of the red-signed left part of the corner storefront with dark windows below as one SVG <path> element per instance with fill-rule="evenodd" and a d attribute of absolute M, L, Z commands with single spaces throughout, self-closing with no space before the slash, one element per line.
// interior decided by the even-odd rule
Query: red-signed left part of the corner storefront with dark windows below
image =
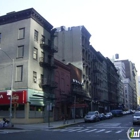
<path fill-rule="evenodd" d="M 10 96 L 8 92 L 0 92 L 0 117 L 10 116 Z M 27 91 L 14 91 L 12 93 L 12 120 L 25 118 L 25 106 L 27 103 Z"/>

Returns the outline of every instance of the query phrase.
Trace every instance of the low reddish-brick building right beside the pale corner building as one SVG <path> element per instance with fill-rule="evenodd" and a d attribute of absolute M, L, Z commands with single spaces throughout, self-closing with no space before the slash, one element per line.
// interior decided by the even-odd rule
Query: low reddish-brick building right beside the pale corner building
<path fill-rule="evenodd" d="M 57 88 L 54 91 L 55 94 L 55 106 L 54 106 L 54 121 L 64 119 L 64 116 L 71 118 L 70 105 L 72 104 L 71 98 L 71 76 L 70 68 L 55 60 L 55 81 L 58 83 Z"/>

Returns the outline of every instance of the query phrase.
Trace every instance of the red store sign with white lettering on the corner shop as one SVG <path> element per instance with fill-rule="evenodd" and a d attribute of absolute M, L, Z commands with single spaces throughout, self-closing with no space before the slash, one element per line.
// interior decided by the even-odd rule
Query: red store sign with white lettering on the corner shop
<path fill-rule="evenodd" d="M 10 104 L 10 96 L 7 92 L 0 92 L 0 104 Z M 14 91 L 12 103 L 25 104 L 27 102 L 27 91 Z"/>

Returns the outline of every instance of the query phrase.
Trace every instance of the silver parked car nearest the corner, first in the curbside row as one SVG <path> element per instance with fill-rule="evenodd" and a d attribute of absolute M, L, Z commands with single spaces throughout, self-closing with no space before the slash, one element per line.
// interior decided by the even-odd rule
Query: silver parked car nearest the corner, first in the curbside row
<path fill-rule="evenodd" d="M 90 111 L 86 114 L 84 117 L 85 122 L 93 122 L 93 121 L 99 121 L 99 112 L 98 111 Z"/>

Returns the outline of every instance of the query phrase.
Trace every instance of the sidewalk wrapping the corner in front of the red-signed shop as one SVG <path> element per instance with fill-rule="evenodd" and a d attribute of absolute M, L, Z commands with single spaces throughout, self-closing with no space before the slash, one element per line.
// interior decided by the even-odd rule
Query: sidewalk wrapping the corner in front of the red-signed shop
<path fill-rule="evenodd" d="M 24 130 L 43 130 L 43 129 L 57 129 L 66 126 L 78 124 L 84 122 L 84 119 L 75 119 L 68 121 L 56 121 L 50 123 L 37 123 L 37 124 L 15 124 L 13 129 L 24 129 Z"/>

